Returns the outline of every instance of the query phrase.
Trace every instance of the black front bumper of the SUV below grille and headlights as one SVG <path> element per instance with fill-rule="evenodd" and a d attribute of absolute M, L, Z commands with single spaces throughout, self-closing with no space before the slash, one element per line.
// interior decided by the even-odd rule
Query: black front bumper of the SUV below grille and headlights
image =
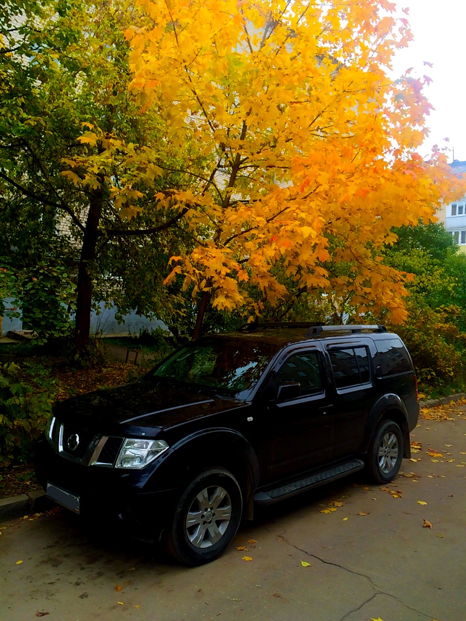
<path fill-rule="evenodd" d="M 117 522 L 130 537 L 145 542 L 160 539 L 173 517 L 178 489 L 144 491 L 144 469 L 124 471 L 117 468 L 85 466 L 57 455 L 40 438 L 35 451 L 37 481 L 60 487 L 79 498 L 79 513 L 87 521 Z"/>

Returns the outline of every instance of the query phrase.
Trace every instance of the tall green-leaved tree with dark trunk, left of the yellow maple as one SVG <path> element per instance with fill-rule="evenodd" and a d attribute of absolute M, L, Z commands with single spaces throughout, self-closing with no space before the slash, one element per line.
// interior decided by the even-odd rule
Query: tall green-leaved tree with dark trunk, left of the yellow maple
<path fill-rule="evenodd" d="M 93 299 L 113 300 L 121 313 L 169 316 L 167 261 L 190 244 L 178 210 L 160 209 L 155 198 L 183 179 L 156 175 L 157 158 L 140 146 L 167 132 L 127 90 L 123 31 L 134 19 L 130 0 L 7 0 L 0 9 L 0 256 L 16 273 L 45 261 L 75 276 L 64 301 L 76 312 L 80 352 Z M 96 127 L 93 141 L 86 132 Z M 96 174 L 79 165 L 91 156 Z M 22 306 L 37 301 L 47 314 L 48 284 L 29 284 Z"/>

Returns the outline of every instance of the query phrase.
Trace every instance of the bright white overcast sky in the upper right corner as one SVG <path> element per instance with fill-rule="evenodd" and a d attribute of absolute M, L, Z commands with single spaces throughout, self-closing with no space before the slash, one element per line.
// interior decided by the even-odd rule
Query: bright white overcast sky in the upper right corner
<path fill-rule="evenodd" d="M 448 161 L 453 148 L 455 160 L 466 160 L 466 0 L 396 0 L 396 4 L 400 13 L 409 8 L 414 40 L 397 52 L 393 69 L 400 75 L 413 67 L 413 75 L 432 78 L 424 91 L 435 108 L 427 117 L 431 134 L 419 152 L 426 155 L 437 144 L 450 149 Z"/>

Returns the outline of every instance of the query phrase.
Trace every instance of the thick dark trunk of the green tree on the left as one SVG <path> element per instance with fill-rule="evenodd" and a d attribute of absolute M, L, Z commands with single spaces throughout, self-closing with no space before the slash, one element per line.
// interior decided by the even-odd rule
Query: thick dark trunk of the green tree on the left
<path fill-rule="evenodd" d="M 91 330 L 92 277 L 91 263 L 96 256 L 96 245 L 99 222 L 102 214 L 103 182 L 94 190 L 89 204 L 89 213 L 81 247 L 80 265 L 78 268 L 78 287 L 76 296 L 75 351 L 81 353 L 88 347 Z"/>

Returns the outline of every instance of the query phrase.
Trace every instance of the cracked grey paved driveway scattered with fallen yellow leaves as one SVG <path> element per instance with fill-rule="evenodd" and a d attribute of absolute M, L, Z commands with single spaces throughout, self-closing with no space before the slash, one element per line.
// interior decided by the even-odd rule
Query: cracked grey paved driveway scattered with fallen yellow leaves
<path fill-rule="evenodd" d="M 462 621 L 466 420 L 452 418 L 421 420 L 407 476 L 384 489 L 358 476 L 263 510 L 199 568 L 89 539 L 64 510 L 17 520 L 0 537 L 0 619 Z"/>

